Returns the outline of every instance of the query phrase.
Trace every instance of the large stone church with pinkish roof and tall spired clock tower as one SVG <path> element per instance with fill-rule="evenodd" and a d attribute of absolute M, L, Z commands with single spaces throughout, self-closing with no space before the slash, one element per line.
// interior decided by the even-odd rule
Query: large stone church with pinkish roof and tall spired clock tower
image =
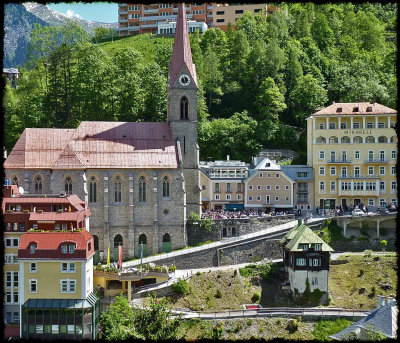
<path fill-rule="evenodd" d="M 167 122 L 83 121 L 76 129 L 27 128 L 4 163 L 25 194 L 76 194 L 88 202 L 98 259 L 186 245 L 200 214 L 197 77 L 183 3 L 169 66 Z M 30 229 L 30 228 L 28 228 Z M 98 260 L 97 259 L 97 260 Z M 97 262 L 97 261 L 96 261 Z"/>

